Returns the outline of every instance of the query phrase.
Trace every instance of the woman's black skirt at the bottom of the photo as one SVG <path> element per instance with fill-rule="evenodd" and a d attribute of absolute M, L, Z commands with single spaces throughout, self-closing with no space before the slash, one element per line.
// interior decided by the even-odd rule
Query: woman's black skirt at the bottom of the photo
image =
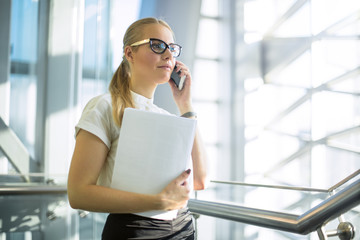
<path fill-rule="evenodd" d="M 181 209 L 174 220 L 159 220 L 135 214 L 109 214 L 103 240 L 121 239 L 195 239 L 192 216 Z"/>

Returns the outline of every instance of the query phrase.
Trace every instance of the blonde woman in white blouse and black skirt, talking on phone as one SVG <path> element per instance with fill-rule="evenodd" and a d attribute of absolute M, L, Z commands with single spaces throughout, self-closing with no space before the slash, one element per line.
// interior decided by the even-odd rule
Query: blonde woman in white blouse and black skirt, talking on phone
<path fill-rule="evenodd" d="M 175 60 L 181 47 L 174 44 L 169 25 L 155 18 L 138 20 L 126 31 L 123 43 L 123 61 L 110 83 L 110 94 L 92 99 L 76 126 L 76 145 L 68 178 L 70 205 L 76 209 L 110 213 L 103 239 L 194 239 L 192 218 L 186 209 L 190 169 L 156 195 L 109 187 L 125 108 L 169 114 L 152 103 L 157 85 L 169 82 L 180 113 L 196 117 L 190 95 L 191 75 L 182 62 Z M 174 68 L 181 71 L 181 76 L 186 76 L 181 91 L 169 81 Z M 191 155 L 194 190 L 201 190 L 205 187 L 207 172 L 206 154 L 198 131 Z M 179 211 L 174 220 L 136 215 L 175 209 Z"/>

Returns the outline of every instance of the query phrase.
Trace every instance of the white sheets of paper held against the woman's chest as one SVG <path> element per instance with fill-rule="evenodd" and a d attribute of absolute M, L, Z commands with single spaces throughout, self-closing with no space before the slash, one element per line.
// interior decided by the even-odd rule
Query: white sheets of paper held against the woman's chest
<path fill-rule="evenodd" d="M 120 129 L 111 187 L 143 194 L 160 193 L 183 171 L 192 168 L 196 120 L 126 108 Z M 190 186 L 193 176 L 190 175 Z M 175 211 L 138 215 L 173 219 Z"/>

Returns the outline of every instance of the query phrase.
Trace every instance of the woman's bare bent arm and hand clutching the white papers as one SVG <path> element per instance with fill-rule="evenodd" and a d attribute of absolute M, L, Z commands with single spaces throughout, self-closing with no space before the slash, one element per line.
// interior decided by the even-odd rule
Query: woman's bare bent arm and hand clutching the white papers
<path fill-rule="evenodd" d="M 80 130 L 76 137 L 68 177 L 68 197 L 73 208 L 93 212 L 136 213 L 179 209 L 189 199 L 187 172 L 183 172 L 156 195 L 137 194 L 96 185 L 107 154 L 107 146 L 98 137 Z"/>

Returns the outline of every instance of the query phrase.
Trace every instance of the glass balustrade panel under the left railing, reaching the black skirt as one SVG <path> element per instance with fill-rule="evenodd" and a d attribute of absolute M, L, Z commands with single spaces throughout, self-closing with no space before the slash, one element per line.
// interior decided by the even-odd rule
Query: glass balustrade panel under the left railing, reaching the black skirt
<path fill-rule="evenodd" d="M 101 239 L 107 217 L 71 209 L 66 194 L 2 196 L 0 212 L 1 240 Z"/>

